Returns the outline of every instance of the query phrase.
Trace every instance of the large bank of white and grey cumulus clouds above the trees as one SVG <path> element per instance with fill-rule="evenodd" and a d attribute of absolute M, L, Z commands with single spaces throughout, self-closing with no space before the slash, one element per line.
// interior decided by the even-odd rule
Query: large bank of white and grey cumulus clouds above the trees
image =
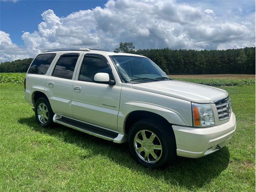
<path fill-rule="evenodd" d="M 174 0 L 109 0 L 104 8 L 80 10 L 61 18 L 54 10 L 46 10 L 42 19 L 37 31 L 23 33 L 22 47 L 1 32 L 0 61 L 33 57 L 52 48 L 114 50 L 119 42 L 134 42 L 137 49 L 255 46 L 255 26 L 249 21 L 229 22 L 213 10 Z M 14 54 L 10 46 L 15 48 Z"/>

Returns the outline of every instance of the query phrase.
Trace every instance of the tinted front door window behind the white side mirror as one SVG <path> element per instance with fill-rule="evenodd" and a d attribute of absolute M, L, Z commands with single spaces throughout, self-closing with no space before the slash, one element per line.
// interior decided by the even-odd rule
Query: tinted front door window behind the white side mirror
<path fill-rule="evenodd" d="M 86 56 L 82 62 L 78 80 L 93 81 L 96 73 L 108 73 L 111 69 L 108 64 L 99 57 Z"/>

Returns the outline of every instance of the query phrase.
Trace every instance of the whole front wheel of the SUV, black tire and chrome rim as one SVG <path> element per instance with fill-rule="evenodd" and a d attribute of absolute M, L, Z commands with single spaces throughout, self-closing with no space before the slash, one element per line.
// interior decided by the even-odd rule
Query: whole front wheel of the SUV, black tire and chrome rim
<path fill-rule="evenodd" d="M 169 123 L 142 119 L 129 131 L 133 158 L 148 168 L 164 168 L 176 157 L 176 141 Z"/>

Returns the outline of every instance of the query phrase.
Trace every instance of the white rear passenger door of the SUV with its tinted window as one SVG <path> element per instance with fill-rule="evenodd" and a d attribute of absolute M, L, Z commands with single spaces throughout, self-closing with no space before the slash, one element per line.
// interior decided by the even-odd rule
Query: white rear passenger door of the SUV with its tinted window
<path fill-rule="evenodd" d="M 73 117 L 71 112 L 73 76 L 80 57 L 80 54 L 75 52 L 60 54 L 46 80 L 45 94 L 56 114 Z"/>

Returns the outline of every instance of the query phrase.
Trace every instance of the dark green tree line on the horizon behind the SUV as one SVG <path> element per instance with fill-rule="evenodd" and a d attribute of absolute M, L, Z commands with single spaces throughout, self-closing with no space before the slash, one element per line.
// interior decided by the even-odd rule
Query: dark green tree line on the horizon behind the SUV
<path fill-rule="evenodd" d="M 166 74 L 255 74 L 255 47 L 228 50 L 135 50 L 132 42 L 120 43 L 116 52 L 141 54 Z M 0 72 L 26 72 L 32 58 L 0 63 Z"/>

